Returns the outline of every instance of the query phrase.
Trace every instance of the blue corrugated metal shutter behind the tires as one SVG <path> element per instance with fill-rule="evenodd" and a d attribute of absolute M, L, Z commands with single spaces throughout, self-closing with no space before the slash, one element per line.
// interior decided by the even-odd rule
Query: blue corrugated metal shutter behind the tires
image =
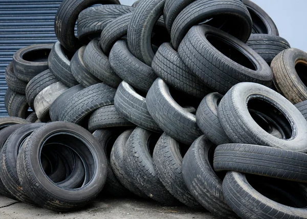
<path fill-rule="evenodd" d="M 7 90 L 5 68 L 20 48 L 35 43 L 54 43 L 54 16 L 61 0 L 0 0 L 0 116 Z"/>

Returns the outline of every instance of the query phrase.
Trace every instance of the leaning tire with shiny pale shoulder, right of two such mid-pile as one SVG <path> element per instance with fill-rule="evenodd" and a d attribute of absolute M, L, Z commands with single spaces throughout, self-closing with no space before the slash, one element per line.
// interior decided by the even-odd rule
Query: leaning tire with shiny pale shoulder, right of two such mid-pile
<path fill-rule="evenodd" d="M 190 145 L 202 135 L 195 115 L 186 111 L 171 96 L 167 84 L 158 78 L 146 96 L 149 114 L 162 130 L 181 143 Z"/>

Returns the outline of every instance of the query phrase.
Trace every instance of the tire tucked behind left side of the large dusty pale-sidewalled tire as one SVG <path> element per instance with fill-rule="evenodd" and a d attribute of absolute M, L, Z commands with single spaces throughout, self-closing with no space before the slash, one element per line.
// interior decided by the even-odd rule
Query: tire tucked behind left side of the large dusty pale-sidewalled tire
<path fill-rule="evenodd" d="M 216 145 L 231 143 L 220 120 L 217 117 L 217 106 L 223 95 L 208 94 L 196 111 L 196 123 L 205 136 Z"/>

